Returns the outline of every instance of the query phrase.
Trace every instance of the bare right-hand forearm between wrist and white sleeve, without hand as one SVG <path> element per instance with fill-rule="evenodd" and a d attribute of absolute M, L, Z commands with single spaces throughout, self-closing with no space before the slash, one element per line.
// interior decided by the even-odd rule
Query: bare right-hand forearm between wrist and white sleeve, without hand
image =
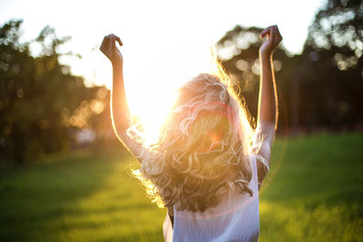
<path fill-rule="evenodd" d="M 273 71 L 272 55 L 260 53 L 260 95 L 258 124 L 278 121 L 278 97 L 275 74 Z"/>

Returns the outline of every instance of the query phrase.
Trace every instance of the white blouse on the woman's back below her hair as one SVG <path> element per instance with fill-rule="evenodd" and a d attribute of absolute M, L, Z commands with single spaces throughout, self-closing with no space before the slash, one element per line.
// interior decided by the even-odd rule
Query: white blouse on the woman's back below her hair
<path fill-rule="evenodd" d="M 250 194 L 230 189 L 221 203 L 204 212 L 178 211 L 174 224 L 167 215 L 163 224 L 165 241 L 258 241 L 260 234 L 257 160 L 250 156 L 252 179 Z"/>

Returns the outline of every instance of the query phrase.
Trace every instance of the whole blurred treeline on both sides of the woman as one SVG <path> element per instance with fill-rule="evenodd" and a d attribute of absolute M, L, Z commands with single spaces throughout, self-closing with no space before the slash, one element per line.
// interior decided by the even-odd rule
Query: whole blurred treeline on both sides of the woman
<path fill-rule="evenodd" d="M 290 133 L 363 129 L 363 4 L 329 0 L 299 55 L 276 50 L 280 129 Z M 293 21 L 293 20 L 291 20 Z M 93 150 L 121 149 L 111 125 L 110 91 L 87 88 L 59 63 L 58 38 L 45 27 L 21 43 L 22 21 L 0 27 L 0 163 L 35 160 L 91 140 Z M 231 80 L 256 117 L 261 29 L 236 26 L 217 44 Z M 33 56 L 30 44 L 42 46 Z M 253 120 L 251 120 L 253 123 Z M 117 145 L 117 147 L 114 147 Z"/>

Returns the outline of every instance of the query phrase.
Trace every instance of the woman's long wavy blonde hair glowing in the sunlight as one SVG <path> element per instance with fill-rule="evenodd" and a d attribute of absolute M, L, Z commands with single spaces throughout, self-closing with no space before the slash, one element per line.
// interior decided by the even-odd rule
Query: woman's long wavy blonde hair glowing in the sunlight
<path fill-rule="evenodd" d="M 256 132 L 228 78 L 201 73 L 179 90 L 158 142 L 132 173 L 160 207 L 204 211 L 228 189 L 252 196 Z"/>

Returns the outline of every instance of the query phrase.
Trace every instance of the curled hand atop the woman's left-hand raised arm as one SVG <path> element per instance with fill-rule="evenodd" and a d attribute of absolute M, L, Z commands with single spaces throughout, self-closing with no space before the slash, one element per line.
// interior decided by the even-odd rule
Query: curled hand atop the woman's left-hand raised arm
<path fill-rule="evenodd" d="M 123 65 L 123 54 L 117 48 L 116 41 L 120 44 L 120 46 L 123 45 L 121 39 L 114 34 L 104 36 L 100 51 L 107 56 L 113 65 Z"/>

